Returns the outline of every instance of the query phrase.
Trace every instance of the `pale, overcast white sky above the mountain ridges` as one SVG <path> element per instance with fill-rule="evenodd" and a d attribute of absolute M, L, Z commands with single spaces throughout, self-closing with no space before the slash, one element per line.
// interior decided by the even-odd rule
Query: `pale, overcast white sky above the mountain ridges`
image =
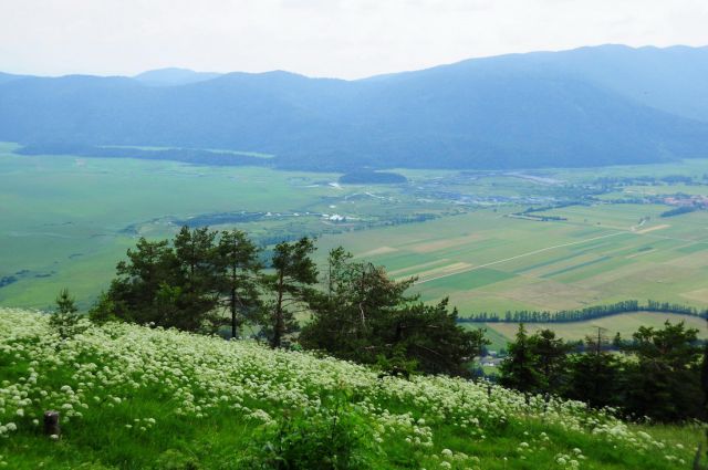
<path fill-rule="evenodd" d="M 708 45 L 708 0 L 0 0 L 0 71 L 357 79 L 583 45 Z"/>

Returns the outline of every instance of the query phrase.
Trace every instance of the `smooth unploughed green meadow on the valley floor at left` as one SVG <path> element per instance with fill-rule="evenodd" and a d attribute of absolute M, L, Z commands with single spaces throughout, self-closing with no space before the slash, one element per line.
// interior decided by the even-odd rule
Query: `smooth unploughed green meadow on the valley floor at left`
<path fill-rule="evenodd" d="M 353 230 L 414 213 L 395 188 L 340 187 L 339 175 L 171 161 L 27 157 L 0 147 L 0 304 L 44 309 L 69 286 L 87 306 L 139 236 L 164 238 L 191 217 L 268 213 L 238 227 L 278 239 Z M 363 195 L 369 192 L 373 196 Z M 363 196 L 362 196 L 363 195 Z M 440 212 L 441 205 L 426 211 Z M 336 222 L 322 213 L 345 213 Z M 219 226 L 227 228 L 233 223 Z M 1 285 L 1 284 L 0 284 Z"/>

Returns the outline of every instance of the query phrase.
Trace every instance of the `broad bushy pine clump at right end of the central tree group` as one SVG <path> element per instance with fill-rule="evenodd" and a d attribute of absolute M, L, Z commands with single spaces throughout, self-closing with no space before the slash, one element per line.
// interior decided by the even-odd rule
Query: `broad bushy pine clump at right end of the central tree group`
<path fill-rule="evenodd" d="M 396 281 L 383 267 L 352 261 L 342 248 L 330 252 L 325 289 L 314 296 L 314 316 L 300 334 L 309 348 L 389 372 L 468 375 L 468 363 L 486 340 L 457 324 L 447 301 L 425 305 L 406 291 L 415 279 Z"/>

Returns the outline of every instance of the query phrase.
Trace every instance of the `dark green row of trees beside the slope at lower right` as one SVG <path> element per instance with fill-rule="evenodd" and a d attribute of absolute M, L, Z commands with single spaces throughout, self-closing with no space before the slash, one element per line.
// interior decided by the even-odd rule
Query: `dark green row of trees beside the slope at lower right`
<path fill-rule="evenodd" d="M 617 407 L 634 418 L 705 419 L 708 351 L 697 334 L 683 322 L 666 322 L 660 330 L 642 326 L 632 340 L 615 338 L 611 345 L 598 330 L 579 351 L 550 330 L 529 335 L 521 324 L 500 367 L 500 383 L 594 407 Z M 620 354 L 611 351 L 615 347 Z"/>

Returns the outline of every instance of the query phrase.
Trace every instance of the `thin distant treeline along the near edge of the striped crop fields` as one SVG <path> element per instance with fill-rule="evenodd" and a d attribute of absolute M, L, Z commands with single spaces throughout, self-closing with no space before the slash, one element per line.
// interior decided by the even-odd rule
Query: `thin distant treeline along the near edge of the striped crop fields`
<path fill-rule="evenodd" d="M 639 301 L 629 300 L 607 305 L 587 306 L 580 310 L 561 310 L 559 312 L 508 311 L 503 316 L 493 312 L 482 312 L 472 316 L 460 317 L 458 321 L 460 323 L 568 323 L 629 312 L 662 312 L 708 318 L 708 309 L 698 310 L 693 306 L 652 300 L 647 301 L 646 304 L 642 304 Z"/>

